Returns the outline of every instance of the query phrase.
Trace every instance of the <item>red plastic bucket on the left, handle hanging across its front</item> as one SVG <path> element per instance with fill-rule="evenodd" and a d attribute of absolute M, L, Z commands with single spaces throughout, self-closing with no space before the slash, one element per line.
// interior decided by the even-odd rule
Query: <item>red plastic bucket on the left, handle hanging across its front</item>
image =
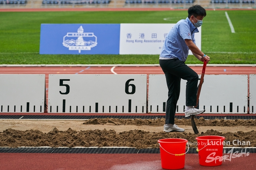
<path fill-rule="evenodd" d="M 186 139 L 172 138 L 158 140 L 162 168 L 169 170 L 184 168 L 187 142 Z"/>

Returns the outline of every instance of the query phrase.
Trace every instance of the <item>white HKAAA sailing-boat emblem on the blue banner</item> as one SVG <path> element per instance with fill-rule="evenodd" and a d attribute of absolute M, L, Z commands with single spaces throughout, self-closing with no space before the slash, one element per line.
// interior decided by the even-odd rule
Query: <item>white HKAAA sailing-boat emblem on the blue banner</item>
<path fill-rule="evenodd" d="M 85 39 L 87 41 L 85 41 Z M 78 28 L 77 33 L 67 33 L 63 37 L 63 43 L 68 50 L 91 50 L 92 47 L 97 45 L 97 37 L 94 33 L 84 33 L 82 25 Z"/>

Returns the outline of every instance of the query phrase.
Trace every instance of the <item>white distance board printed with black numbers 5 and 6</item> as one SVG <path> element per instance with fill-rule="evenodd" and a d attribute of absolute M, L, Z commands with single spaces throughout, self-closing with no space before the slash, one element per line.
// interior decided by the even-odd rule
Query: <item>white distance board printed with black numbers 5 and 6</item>
<path fill-rule="evenodd" d="M 146 74 L 49 74 L 48 113 L 146 113 Z"/>

